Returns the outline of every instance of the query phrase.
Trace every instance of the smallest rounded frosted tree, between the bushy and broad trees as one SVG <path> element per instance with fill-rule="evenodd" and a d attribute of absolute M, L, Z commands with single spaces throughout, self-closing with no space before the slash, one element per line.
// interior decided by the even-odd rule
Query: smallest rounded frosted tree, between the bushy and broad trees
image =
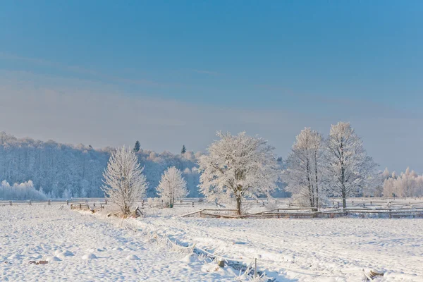
<path fill-rule="evenodd" d="M 157 186 L 157 194 L 166 202 L 168 207 L 173 207 L 176 199 L 188 195 L 187 183 L 178 168 L 171 166 L 164 171 Z"/>

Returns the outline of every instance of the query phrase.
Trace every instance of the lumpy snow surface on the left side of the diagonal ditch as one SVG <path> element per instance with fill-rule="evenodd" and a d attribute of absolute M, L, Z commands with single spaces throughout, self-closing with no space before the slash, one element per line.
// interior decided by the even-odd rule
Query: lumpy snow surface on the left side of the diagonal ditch
<path fill-rule="evenodd" d="M 152 244 L 142 232 L 66 207 L 0 207 L 0 281 L 233 281 L 230 268 Z M 139 259 L 137 259 L 139 258 Z M 47 264 L 30 261 L 47 260 Z"/>

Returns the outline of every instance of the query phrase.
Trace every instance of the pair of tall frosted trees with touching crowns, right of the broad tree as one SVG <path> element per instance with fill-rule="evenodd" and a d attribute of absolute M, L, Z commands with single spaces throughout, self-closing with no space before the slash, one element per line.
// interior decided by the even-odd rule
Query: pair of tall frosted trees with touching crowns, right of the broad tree
<path fill-rule="evenodd" d="M 329 137 L 305 128 L 286 160 L 286 190 L 309 207 L 319 207 L 328 196 L 360 194 L 379 185 L 377 164 L 369 157 L 350 123 L 331 125 Z"/>

